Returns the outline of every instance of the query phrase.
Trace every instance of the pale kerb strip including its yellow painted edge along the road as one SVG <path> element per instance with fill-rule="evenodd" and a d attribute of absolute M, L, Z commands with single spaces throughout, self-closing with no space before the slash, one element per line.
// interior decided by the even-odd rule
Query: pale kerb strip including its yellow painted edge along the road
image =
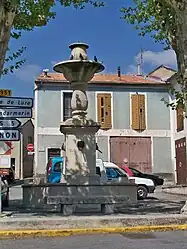
<path fill-rule="evenodd" d="M 0 239 L 187 230 L 187 215 L 106 215 L 0 219 Z"/>

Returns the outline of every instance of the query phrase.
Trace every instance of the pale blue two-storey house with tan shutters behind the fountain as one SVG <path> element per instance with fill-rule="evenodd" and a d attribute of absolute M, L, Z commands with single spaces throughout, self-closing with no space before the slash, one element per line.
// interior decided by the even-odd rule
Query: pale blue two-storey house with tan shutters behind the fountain
<path fill-rule="evenodd" d="M 72 91 L 63 75 L 35 81 L 35 175 L 45 173 L 49 157 L 61 154 L 60 122 L 71 116 Z M 97 157 L 118 165 L 173 178 L 170 109 L 165 82 L 133 75 L 96 75 L 88 84 L 88 116 L 101 125 Z"/>

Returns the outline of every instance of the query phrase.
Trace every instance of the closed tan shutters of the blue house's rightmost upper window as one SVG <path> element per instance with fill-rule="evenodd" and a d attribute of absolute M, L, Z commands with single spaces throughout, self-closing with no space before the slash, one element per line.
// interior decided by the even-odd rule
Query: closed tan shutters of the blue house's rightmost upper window
<path fill-rule="evenodd" d="M 146 129 L 145 95 L 133 94 L 132 101 L 132 129 L 143 131 Z"/>

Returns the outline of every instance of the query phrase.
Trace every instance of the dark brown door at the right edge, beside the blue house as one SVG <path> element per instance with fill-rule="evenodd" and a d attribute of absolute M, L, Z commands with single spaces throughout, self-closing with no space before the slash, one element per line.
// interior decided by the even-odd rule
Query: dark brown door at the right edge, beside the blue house
<path fill-rule="evenodd" d="M 177 184 L 187 183 L 186 138 L 175 141 Z"/>

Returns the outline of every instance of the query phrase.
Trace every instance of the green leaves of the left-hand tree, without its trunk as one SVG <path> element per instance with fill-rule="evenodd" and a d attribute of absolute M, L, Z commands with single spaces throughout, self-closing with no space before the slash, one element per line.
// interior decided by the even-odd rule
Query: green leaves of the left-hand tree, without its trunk
<path fill-rule="evenodd" d="M 84 9 L 86 4 L 91 4 L 94 7 L 104 6 L 104 2 L 98 0 L 6 0 L 4 2 L 5 11 L 16 13 L 11 38 L 19 39 L 22 31 L 32 31 L 35 27 L 46 26 L 48 22 L 56 16 L 54 7 L 57 3 L 60 3 L 63 7 L 72 6 L 77 9 Z M 8 56 L 5 62 L 9 64 L 10 61 L 18 59 L 25 49 L 25 47 L 22 47 L 16 53 Z M 9 51 L 9 49 L 7 50 Z M 17 60 L 14 65 L 4 68 L 2 75 L 9 72 L 13 73 L 14 70 L 22 66 L 24 62 L 25 59 Z"/>

